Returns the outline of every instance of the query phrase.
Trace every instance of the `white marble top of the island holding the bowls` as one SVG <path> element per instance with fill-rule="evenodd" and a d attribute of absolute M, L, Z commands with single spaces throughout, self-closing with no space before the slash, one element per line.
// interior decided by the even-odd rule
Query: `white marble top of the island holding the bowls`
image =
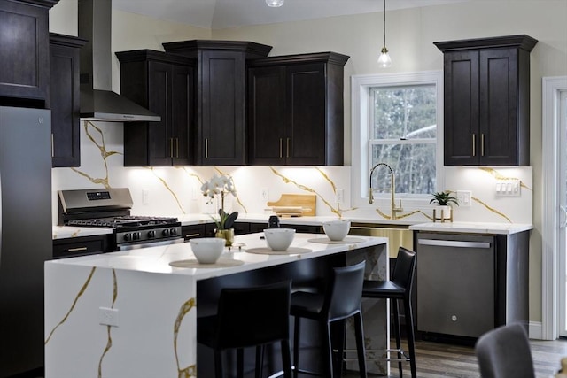
<path fill-rule="evenodd" d="M 360 243 L 311 243 L 310 239 L 325 238 L 319 234 L 296 234 L 291 247 L 306 248 L 312 250 L 307 253 L 291 255 L 268 255 L 246 252 L 246 249 L 266 247 L 266 241 L 260 239 L 262 233 L 239 235 L 235 237 L 235 243 L 243 244 L 242 248 L 225 249 L 221 258 L 237 259 L 244 262 L 240 266 L 228 266 L 217 268 L 180 268 L 169 266 L 170 262 L 194 259 L 190 243 L 176 243 L 158 247 L 148 247 L 138 250 L 120 251 L 99 255 L 89 255 L 78 258 L 62 258 L 48 261 L 46 264 L 62 264 L 73 266 L 106 267 L 130 270 L 136 272 L 151 272 L 160 274 L 181 274 L 193 276 L 196 280 L 204 280 L 214 276 L 235 274 L 260 269 L 266 266 L 276 266 L 303 258 L 317 258 L 342 251 L 350 251 L 364 247 L 382 245 L 388 243 L 384 237 L 356 236 Z"/>

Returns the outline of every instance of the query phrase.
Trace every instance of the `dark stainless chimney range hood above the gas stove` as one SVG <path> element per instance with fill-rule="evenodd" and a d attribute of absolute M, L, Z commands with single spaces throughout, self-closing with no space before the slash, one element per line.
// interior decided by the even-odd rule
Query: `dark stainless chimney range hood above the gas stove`
<path fill-rule="evenodd" d="M 81 120 L 159 121 L 150 112 L 112 91 L 112 0 L 79 0 L 81 49 Z"/>

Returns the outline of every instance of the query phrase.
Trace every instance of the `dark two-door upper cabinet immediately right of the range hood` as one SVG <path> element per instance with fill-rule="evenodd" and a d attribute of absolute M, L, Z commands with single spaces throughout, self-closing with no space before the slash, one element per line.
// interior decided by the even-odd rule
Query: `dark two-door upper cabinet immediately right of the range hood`
<path fill-rule="evenodd" d="M 159 122 L 124 123 L 124 166 L 193 164 L 194 59 L 154 50 L 117 52 L 120 93 Z"/>

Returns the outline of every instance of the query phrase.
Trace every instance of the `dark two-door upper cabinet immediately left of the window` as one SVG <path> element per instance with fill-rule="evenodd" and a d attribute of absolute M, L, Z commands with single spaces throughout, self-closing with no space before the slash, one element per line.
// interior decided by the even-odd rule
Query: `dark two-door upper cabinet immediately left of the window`
<path fill-rule="evenodd" d="M 343 164 L 343 67 L 348 58 L 323 52 L 249 62 L 249 164 Z"/>

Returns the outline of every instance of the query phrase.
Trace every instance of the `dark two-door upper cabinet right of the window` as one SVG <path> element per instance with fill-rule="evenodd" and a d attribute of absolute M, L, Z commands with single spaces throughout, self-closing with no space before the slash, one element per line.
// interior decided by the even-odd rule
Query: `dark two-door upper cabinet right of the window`
<path fill-rule="evenodd" d="M 434 42 L 443 51 L 445 165 L 529 166 L 528 35 Z"/>

